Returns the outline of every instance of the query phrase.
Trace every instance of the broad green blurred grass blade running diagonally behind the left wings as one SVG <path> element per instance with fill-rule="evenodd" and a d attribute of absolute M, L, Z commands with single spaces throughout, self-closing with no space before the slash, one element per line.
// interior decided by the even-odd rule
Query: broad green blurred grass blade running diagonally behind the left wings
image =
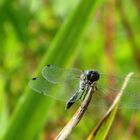
<path fill-rule="evenodd" d="M 75 11 L 65 21 L 54 38 L 41 64 L 39 73 L 46 64 L 70 65 L 79 49 L 78 42 L 82 38 L 85 27 L 93 13 L 100 5 L 99 0 L 82 0 Z M 31 140 L 44 126 L 48 111 L 54 101 L 34 94 L 28 87 L 17 103 L 3 140 Z"/>

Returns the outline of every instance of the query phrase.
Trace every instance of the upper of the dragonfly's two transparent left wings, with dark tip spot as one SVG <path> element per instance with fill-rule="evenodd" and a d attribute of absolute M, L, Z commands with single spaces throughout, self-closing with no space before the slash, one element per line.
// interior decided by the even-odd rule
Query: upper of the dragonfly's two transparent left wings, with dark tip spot
<path fill-rule="evenodd" d="M 47 65 L 42 69 L 43 77 L 52 83 L 65 83 L 66 81 L 77 80 L 82 71 L 79 69 L 64 69 L 55 65 Z"/>

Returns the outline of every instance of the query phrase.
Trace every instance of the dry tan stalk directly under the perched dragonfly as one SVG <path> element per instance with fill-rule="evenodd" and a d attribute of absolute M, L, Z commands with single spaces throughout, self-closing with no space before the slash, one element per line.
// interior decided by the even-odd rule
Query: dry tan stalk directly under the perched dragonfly
<path fill-rule="evenodd" d="M 66 126 L 62 129 L 62 131 L 58 134 L 58 136 L 55 138 L 55 140 L 64 140 L 68 137 L 68 135 L 71 133 L 72 129 L 79 123 L 79 121 L 81 120 L 85 111 L 87 110 L 87 107 L 91 101 L 92 95 L 93 95 L 93 89 L 92 89 L 92 87 L 90 87 L 81 106 L 78 108 L 76 113 L 73 115 L 72 119 L 66 124 Z"/>

